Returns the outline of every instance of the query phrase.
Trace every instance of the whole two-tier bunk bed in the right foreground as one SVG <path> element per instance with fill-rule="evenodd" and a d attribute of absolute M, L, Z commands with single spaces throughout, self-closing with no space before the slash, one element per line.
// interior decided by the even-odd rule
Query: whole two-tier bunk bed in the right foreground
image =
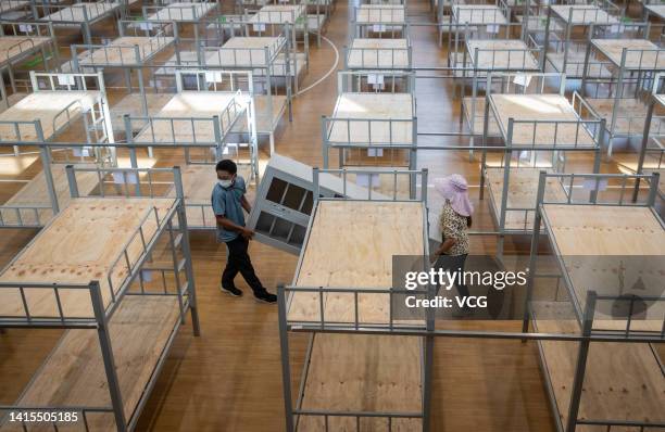
<path fill-rule="evenodd" d="M 548 177 L 566 187 L 563 200 L 543 196 Z M 588 338 L 578 344 L 538 341 L 559 430 L 650 430 L 665 423 L 662 360 L 650 343 L 662 342 L 665 304 L 662 292 L 658 295 L 653 290 L 660 281 L 656 275 L 640 271 L 642 292 L 630 288 L 635 280 L 631 274 L 625 275 L 626 287 L 620 281 L 617 284 L 622 261 L 645 262 L 652 270 L 654 263 L 662 266 L 665 257 L 665 226 L 653 208 L 654 187 L 650 185 L 648 191 L 642 191 L 638 203 L 624 196 L 630 190 L 626 185 L 639 177 L 540 175 L 535 232 L 542 229 L 550 238 L 567 295 L 534 302 L 534 329 Z M 595 186 L 580 193 L 584 182 Z M 619 189 L 612 191 L 607 183 Z M 608 237 L 607 231 L 613 236 Z M 537 244 L 538 234 L 531 243 L 531 263 L 539 255 Z M 537 278 L 538 270 L 529 267 Z M 636 295 L 650 302 L 650 306 L 633 309 L 639 298 Z M 626 314 L 617 314 L 619 309 Z M 618 336 L 594 341 L 611 335 Z"/>

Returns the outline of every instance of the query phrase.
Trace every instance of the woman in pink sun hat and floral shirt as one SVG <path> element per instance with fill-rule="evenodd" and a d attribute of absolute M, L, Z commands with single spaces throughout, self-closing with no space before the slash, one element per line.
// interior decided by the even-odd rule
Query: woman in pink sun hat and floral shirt
<path fill-rule="evenodd" d="M 472 213 L 474 213 L 474 206 L 468 199 L 466 179 L 453 174 L 436 179 L 435 188 L 446 200 L 439 218 L 442 239 L 441 245 L 435 251 L 437 258 L 435 267 L 464 271 L 464 263 L 468 255 L 468 228 L 472 226 Z M 457 291 L 462 296 L 468 295 L 466 285 L 457 285 Z"/>

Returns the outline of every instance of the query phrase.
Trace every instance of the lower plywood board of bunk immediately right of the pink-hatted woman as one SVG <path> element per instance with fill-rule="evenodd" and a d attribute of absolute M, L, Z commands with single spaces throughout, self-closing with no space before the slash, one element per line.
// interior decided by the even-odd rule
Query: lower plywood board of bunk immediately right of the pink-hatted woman
<path fill-rule="evenodd" d="M 536 208 L 538 196 L 538 177 L 542 168 L 511 167 L 506 208 Z M 491 194 L 491 209 L 495 220 L 501 217 L 501 198 L 503 196 L 503 168 L 486 168 L 487 186 Z M 548 179 L 545 199 L 565 201 L 565 192 L 557 179 Z M 534 212 L 506 211 L 505 229 L 532 231 Z"/>

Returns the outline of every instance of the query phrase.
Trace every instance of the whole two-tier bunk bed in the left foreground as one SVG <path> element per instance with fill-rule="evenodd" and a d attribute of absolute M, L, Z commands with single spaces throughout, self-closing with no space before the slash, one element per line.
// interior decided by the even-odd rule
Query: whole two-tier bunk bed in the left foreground
<path fill-rule="evenodd" d="M 75 191 L 77 174 L 67 169 Z M 160 247 L 171 262 L 149 258 Z M 199 334 L 181 196 L 75 195 L 0 272 L 0 327 L 65 330 L 3 414 L 66 410 L 78 415 L 76 428 L 133 430 L 188 312 Z M 33 427 L 1 422 L 8 431 Z"/>

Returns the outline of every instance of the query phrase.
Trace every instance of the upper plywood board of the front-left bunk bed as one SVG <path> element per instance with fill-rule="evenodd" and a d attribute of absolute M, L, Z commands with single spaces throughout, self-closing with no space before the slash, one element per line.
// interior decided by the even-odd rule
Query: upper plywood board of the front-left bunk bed
<path fill-rule="evenodd" d="M 74 199 L 2 270 L 0 280 L 84 284 L 99 280 L 104 304 L 109 304 L 109 279 L 117 292 L 128 275 L 124 261 L 113 267 L 115 259 L 127 245 L 129 262 L 134 265 L 142 252 L 140 236 L 135 233 L 143 217 L 156 207 L 162 218 L 173 205 L 172 199 Z M 142 230 L 147 241 L 155 234 L 152 214 L 143 221 Z M 87 290 L 60 290 L 60 301 L 65 316 L 92 316 Z M 26 302 L 34 316 L 58 316 L 53 290 L 26 292 Z M 25 315 L 17 289 L 0 291 L 0 315 Z"/>

